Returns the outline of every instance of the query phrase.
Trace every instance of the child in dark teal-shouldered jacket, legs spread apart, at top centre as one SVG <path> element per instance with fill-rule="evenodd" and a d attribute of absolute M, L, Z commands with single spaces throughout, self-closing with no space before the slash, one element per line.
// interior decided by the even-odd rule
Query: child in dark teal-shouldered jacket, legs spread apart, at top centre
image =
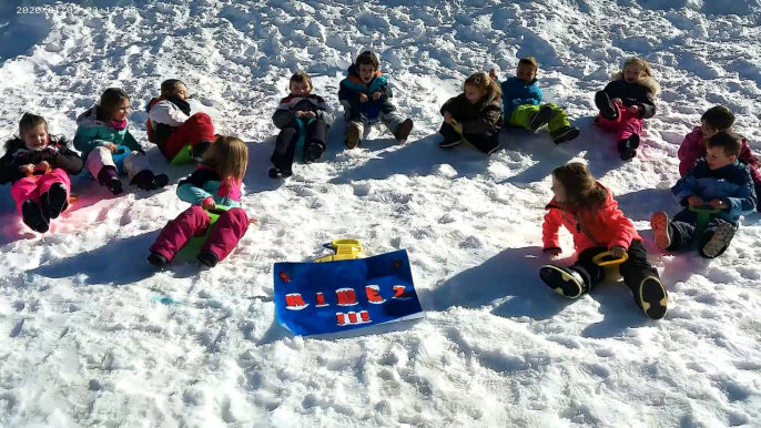
<path fill-rule="evenodd" d="M 380 62 L 375 53 L 362 52 L 348 68 L 348 77 L 341 81 L 338 100 L 346 118 L 346 146 L 354 149 L 362 142 L 367 128 L 383 122 L 394 137 L 407 141 L 413 131 L 413 120 L 404 119 L 388 101 L 392 89 L 388 79 L 380 73 Z"/>

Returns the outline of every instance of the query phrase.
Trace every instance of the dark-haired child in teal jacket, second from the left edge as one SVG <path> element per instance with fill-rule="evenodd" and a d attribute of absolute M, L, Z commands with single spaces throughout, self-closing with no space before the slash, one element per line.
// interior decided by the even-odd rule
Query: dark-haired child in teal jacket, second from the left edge
<path fill-rule="evenodd" d="M 126 130 L 128 114 L 130 96 L 119 88 L 109 88 L 101 95 L 100 103 L 77 118 L 74 147 L 82 152 L 84 166 L 93 179 L 114 195 L 123 191 L 112 156 L 120 145 L 130 149 L 130 154 L 124 159 L 124 172 L 131 179 L 130 185 L 151 191 L 169 183 L 166 174 L 156 175 L 149 170 L 150 161 L 145 152 Z"/>

